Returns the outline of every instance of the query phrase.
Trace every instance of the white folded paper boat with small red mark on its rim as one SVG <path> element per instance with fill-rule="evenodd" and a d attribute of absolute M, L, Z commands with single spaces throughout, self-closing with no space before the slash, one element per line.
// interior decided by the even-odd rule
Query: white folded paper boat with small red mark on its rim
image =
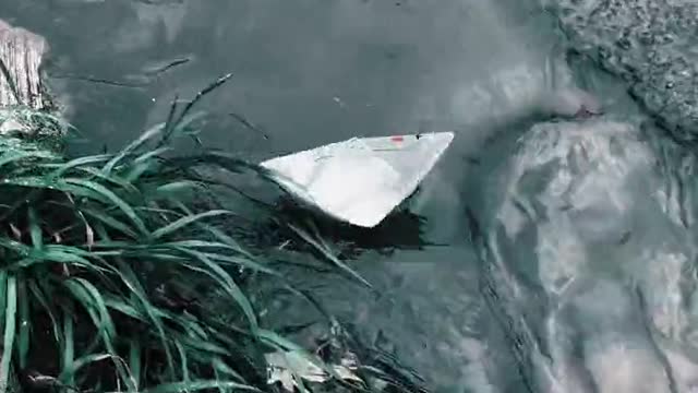
<path fill-rule="evenodd" d="M 453 139 L 453 132 L 353 138 L 261 165 L 329 216 L 373 227 L 417 190 Z"/>

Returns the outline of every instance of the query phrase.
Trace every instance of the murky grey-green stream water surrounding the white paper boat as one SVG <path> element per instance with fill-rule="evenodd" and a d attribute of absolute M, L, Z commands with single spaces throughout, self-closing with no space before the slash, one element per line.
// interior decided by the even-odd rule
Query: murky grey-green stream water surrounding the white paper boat
<path fill-rule="evenodd" d="M 333 277 L 299 283 L 435 391 L 691 392 L 695 160 L 652 122 L 695 131 L 698 94 L 675 66 L 691 60 L 690 37 L 676 27 L 681 12 L 657 33 L 670 44 L 618 46 L 613 28 L 652 37 L 647 21 L 663 15 L 652 10 L 695 7 L 555 4 L 5 0 L 0 16 L 47 37 L 51 84 L 88 139 L 77 150 L 120 145 L 161 120 L 176 94 L 228 72 L 231 83 L 205 98 L 202 138 L 253 159 L 455 130 L 409 205 L 437 246 L 357 257 L 378 295 Z M 599 59 L 600 48 L 612 56 Z M 657 59 L 666 52 L 673 62 Z M 666 91 L 666 75 L 682 88 Z M 605 115 L 533 116 L 551 80 L 589 90 Z M 392 225 L 378 234 L 419 235 Z"/>

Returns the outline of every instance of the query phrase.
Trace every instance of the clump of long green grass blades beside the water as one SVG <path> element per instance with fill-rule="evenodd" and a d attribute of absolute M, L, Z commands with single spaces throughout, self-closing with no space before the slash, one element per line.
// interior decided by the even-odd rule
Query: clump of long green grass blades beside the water
<path fill-rule="evenodd" d="M 64 123 L 14 115 L 58 129 L 0 136 L 0 393 L 275 390 L 265 352 L 312 358 L 260 322 L 245 276 L 293 289 L 231 235 L 237 215 L 203 175 L 267 174 L 171 147 L 197 141 L 192 108 L 228 78 L 117 153 L 69 158 Z"/>

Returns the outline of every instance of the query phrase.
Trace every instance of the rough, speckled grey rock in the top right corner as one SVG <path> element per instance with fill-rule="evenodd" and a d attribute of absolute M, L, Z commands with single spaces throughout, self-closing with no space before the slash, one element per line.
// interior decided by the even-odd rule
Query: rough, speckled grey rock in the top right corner
<path fill-rule="evenodd" d="M 543 0 L 571 45 L 630 84 L 679 141 L 698 141 L 698 3 Z"/>

